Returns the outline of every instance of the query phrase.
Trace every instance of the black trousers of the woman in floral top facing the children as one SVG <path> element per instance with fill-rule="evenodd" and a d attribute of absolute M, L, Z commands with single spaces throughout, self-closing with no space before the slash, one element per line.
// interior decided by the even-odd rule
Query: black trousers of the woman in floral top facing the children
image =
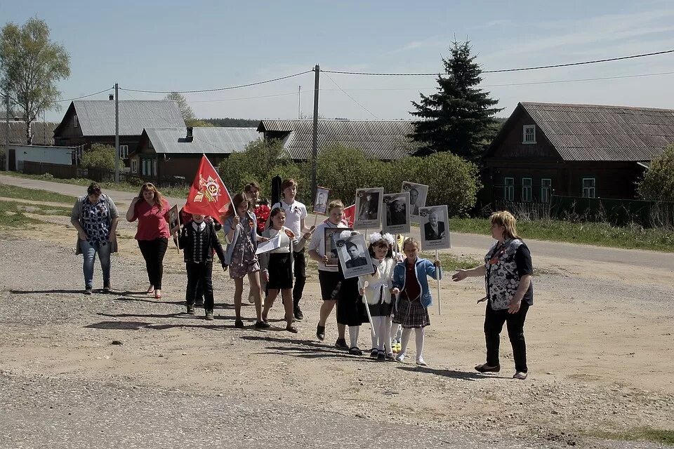
<path fill-rule="evenodd" d="M 484 314 L 484 338 L 487 340 L 487 365 L 499 366 L 498 345 L 501 342 L 503 323 L 508 328 L 508 337 L 513 346 L 515 370 L 527 373 L 527 344 L 524 343 L 524 319 L 527 317 L 529 304 L 522 301 L 520 310 L 516 314 L 509 314 L 508 309 L 494 310 L 487 302 L 487 311 Z"/>

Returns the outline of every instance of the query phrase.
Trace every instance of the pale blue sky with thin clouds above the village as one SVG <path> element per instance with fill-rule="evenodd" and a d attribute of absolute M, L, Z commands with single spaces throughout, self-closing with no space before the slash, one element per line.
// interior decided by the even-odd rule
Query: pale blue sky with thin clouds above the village
<path fill-rule="evenodd" d="M 145 91 L 239 86 L 319 65 L 347 72 L 437 73 L 456 39 L 484 70 L 616 58 L 674 49 L 670 0 L 512 1 L 1 1 L 0 24 L 45 20 L 67 48 L 64 100 L 119 83 Z M 672 72 L 672 73 L 666 73 Z M 665 73 L 665 74 L 663 74 Z M 648 76 L 642 76 L 648 75 Z M 602 78 L 602 79 L 597 79 Z M 612 78 L 612 79 L 607 79 Z M 577 81 L 588 80 L 590 81 Z M 558 82 L 564 81 L 564 82 Z M 508 116 L 520 101 L 674 109 L 674 53 L 579 67 L 483 74 Z M 434 76 L 322 72 L 327 119 L 410 119 Z M 110 91 L 112 92 L 112 91 Z M 107 92 L 91 98 L 107 99 Z M 312 115 L 314 73 L 249 88 L 185 93 L 199 118 Z M 120 100 L 165 94 L 120 91 Z M 60 121 L 61 112 L 46 119 Z"/>

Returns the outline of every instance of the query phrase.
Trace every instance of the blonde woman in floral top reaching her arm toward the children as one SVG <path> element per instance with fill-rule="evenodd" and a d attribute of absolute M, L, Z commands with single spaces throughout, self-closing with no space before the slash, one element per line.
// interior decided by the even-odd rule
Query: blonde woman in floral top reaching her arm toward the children
<path fill-rule="evenodd" d="M 508 327 L 508 337 L 513 346 L 515 375 L 527 378 L 527 346 L 524 343 L 524 319 L 529 306 L 534 304 L 534 286 L 531 275 L 531 253 L 517 236 L 515 217 L 510 212 L 494 212 L 489 217 L 491 236 L 496 242 L 491 245 L 484 264 L 473 269 L 459 269 L 451 279 L 463 281 L 468 276 L 484 276 L 487 296 L 487 311 L 484 316 L 484 337 L 487 342 L 487 363 L 475 367 L 480 373 L 498 373 L 498 346 L 503 323 Z"/>

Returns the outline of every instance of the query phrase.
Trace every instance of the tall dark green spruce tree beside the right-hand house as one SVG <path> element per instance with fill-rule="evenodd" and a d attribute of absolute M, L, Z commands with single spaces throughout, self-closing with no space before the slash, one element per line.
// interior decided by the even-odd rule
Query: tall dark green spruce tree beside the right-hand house
<path fill-rule="evenodd" d="M 470 55 L 469 42 L 453 42 L 449 50 L 437 93 L 420 94 L 421 100 L 412 102 L 416 112 L 411 114 L 421 120 L 414 122 L 410 137 L 418 142 L 419 155 L 447 151 L 477 161 L 498 132 L 494 115 L 503 108 L 495 108 L 498 100 L 477 88 L 482 69 Z"/>

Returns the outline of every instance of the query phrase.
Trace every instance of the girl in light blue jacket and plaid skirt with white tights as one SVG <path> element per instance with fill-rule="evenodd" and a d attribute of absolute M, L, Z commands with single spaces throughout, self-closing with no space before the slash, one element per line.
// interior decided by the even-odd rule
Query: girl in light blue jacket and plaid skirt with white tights
<path fill-rule="evenodd" d="M 393 269 L 392 293 L 399 293 L 393 323 L 402 324 L 402 347 L 395 359 L 404 361 L 409 335 L 414 329 L 416 364 L 426 366 L 423 360 L 423 328 L 430 326 L 428 307 L 432 304 L 426 276 L 442 279 L 440 260 L 430 262 L 418 257 L 419 242 L 411 237 L 405 239 L 402 251 L 407 257 Z"/>

